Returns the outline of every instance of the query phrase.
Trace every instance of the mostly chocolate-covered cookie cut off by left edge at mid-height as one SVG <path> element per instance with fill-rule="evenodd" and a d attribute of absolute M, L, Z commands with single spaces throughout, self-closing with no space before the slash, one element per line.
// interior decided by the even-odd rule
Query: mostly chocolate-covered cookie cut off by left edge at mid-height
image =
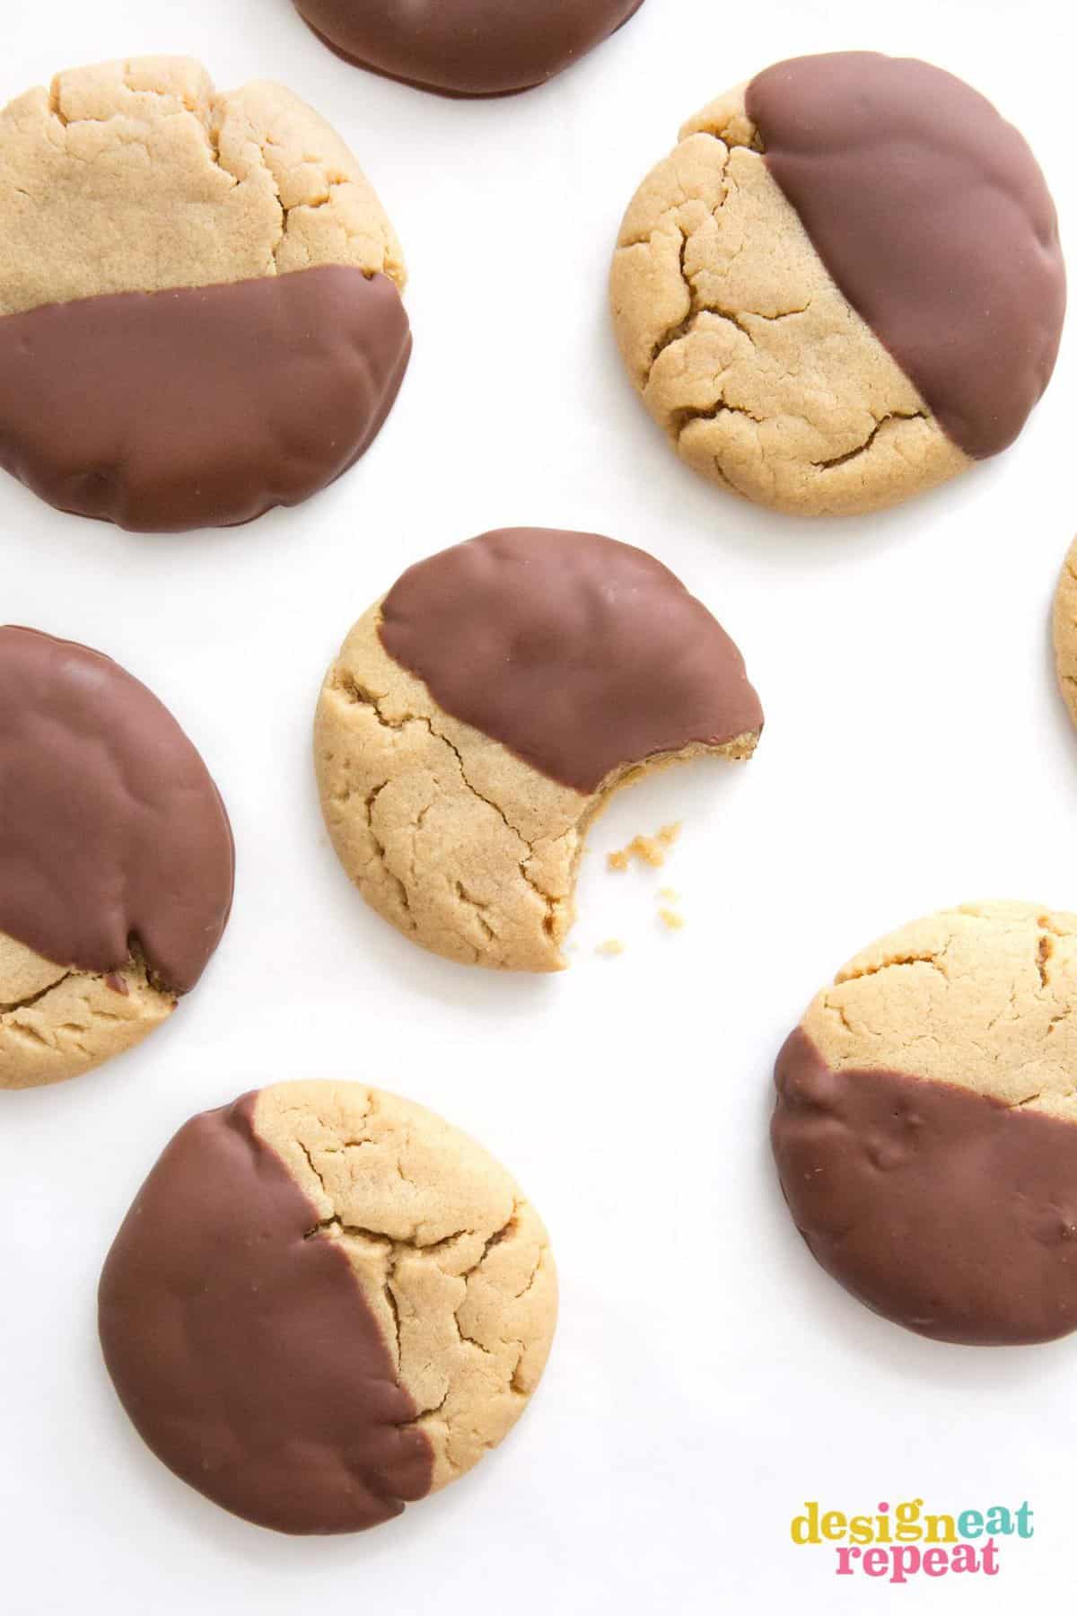
<path fill-rule="evenodd" d="M 145 685 L 0 629 L 0 1089 L 58 1083 L 189 992 L 233 900 L 216 785 Z"/>

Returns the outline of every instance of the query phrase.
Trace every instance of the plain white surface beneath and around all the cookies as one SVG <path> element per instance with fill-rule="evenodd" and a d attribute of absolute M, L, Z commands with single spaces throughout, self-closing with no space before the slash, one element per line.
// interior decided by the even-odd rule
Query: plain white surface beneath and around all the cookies
<path fill-rule="evenodd" d="M 0 621 L 147 680 L 215 772 L 239 856 L 229 931 L 171 1023 L 76 1083 L 0 1096 L 3 1616 L 1069 1606 L 1077 1340 L 938 1346 L 867 1314 L 785 1214 L 767 1112 L 785 1033 L 874 936 L 970 898 L 1077 908 L 1077 743 L 1048 651 L 1077 525 L 1077 322 L 1014 449 L 904 509 L 812 524 L 677 462 L 606 312 L 622 210 L 681 118 L 825 48 L 928 57 L 991 95 L 1077 263 L 1066 10 L 646 0 L 546 89 L 475 103 L 347 68 L 287 0 L 5 0 L 0 99 L 145 52 L 308 99 L 400 233 L 415 357 L 360 465 L 254 527 L 124 535 L 0 485 Z M 615 803 L 554 979 L 426 957 L 370 913 L 308 760 L 352 619 L 407 562 L 512 524 L 656 551 L 740 642 L 767 711 L 746 768 Z M 668 819 L 685 829 L 665 871 L 606 871 L 607 848 Z M 678 934 L 657 921 L 667 884 Z M 606 937 L 625 953 L 596 957 Z M 475 1133 L 546 1217 L 562 1275 L 549 1372 L 504 1448 L 337 1540 L 262 1532 L 174 1480 L 128 1427 L 94 1333 L 102 1257 L 174 1128 L 305 1076 L 397 1088 Z M 1035 1537 L 1003 1547 L 993 1582 L 901 1590 L 790 1543 L 807 1498 L 909 1496 L 1027 1498 Z"/>

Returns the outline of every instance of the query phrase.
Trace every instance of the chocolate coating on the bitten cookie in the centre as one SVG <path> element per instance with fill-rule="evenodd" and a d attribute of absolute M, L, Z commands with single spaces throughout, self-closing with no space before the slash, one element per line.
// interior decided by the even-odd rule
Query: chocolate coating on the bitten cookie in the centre
<path fill-rule="evenodd" d="M 654 556 L 597 533 L 483 533 L 409 567 L 381 643 L 452 718 L 562 785 L 762 727 L 741 653 Z"/>

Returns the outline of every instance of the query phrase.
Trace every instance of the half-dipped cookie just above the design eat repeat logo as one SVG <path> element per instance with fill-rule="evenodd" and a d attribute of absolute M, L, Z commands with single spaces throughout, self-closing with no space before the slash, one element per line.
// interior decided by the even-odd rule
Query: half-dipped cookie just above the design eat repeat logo
<path fill-rule="evenodd" d="M 938 1341 L 1077 1328 L 1077 916 L 982 903 L 856 955 L 777 1063 L 772 1143 L 817 1260 Z"/>

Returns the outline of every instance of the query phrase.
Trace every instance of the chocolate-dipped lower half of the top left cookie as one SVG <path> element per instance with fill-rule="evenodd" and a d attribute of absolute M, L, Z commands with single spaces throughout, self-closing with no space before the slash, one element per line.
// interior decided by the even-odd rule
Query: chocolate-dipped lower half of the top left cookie
<path fill-rule="evenodd" d="M 384 275 L 329 265 L 0 318 L 0 465 L 136 532 L 250 522 L 352 465 L 412 347 Z"/>

